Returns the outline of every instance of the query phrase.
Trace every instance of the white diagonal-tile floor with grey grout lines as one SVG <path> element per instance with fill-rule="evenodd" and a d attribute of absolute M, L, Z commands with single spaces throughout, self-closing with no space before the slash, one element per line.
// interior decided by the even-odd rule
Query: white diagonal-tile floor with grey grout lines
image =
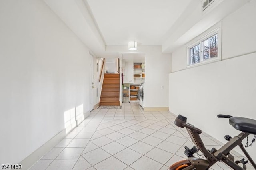
<path fill-rule="evenodd" d="M 137 102 L 95 109 L 30 170 L 167 170 L 186 158 L 184 146 L 194 146 L 174 119 L 168 111 L 143 111 Z M 208 134 L 201 136 L 208 149 L 222 145 Z M 212 169 L 230 168 L 218 163 Z"/>

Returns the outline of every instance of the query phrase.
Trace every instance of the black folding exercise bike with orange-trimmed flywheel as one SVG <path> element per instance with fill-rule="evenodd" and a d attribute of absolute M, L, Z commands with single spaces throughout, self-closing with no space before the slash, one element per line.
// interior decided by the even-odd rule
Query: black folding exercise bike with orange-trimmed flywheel
<path fill-rule="evenodd" d="M 212 148 L 208 150 L 204 146 L 204 142 L 200 138 L 200 134 L 202 131 L 193 125 L 187 123 L 187 118 L 181 115 L 176 117 L 174 124 L 181 128 L 186 128 L 192 142 L 195 146 L 191 149 L 185 147 L 185 154 L 188 157 L 186 160 L 181 160 L 179 162 L 174 163 L 168 170 L 208 170 L 212 165 L 214 165 L 217 161 L 224 162 L 229 167 L 234 170 L 246 170 L 246 163 L 248 161 L 236 160 L 234 161 L 234 156 L 230 154 L 230 151 L 239 146 L 242 152 L 244 152 L 247 159 L 250 161 L 252 166 L 256 169 L 256 164 L 245 150 L 242 140 L 246 138 L 249 134 L 254 134 L 254 138 L 252 142 L 255 141 L 256 134 L 256 120 L 248 119 L 244 117 L 232 117 L 230 115 L 217 115 L 221 118 L 229 118 L 229 124 L 232 125 L 236 130 L 242 131 L 240 134 L 232 138 L 229 135 L 225 136 L 225 139 L 228 140 L 226 144 L 224 144 L 220 149 Z M 194 153 L 200 150 L 206 159 L 196 158 L 194 157 Z M 240 165 L 241 166 L 240 166 Z"/>

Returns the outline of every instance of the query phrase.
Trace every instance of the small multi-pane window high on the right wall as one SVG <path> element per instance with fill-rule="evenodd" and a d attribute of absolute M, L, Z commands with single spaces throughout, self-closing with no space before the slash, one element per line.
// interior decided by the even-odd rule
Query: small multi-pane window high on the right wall
<path fill-rule="evenodd" d="M 188 47 L 188 66 L 212 61 L 218 57 L 218 32 Z"/>

